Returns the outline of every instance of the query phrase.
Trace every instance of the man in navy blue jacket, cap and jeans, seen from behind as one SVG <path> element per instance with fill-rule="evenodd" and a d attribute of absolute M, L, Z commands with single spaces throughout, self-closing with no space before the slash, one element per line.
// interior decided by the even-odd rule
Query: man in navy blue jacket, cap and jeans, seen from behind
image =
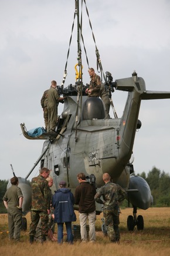
<path fill-rule="evenodd" d="M 69 188 L 66 188 L 66 181 L 60 181 L 59 189 L 52 197 L 52 207 L 55 208 L 55 222 L 58 226 L 58 243 L 63 242 L 63 224 L 66 224 L 67 242 L 73 244 L 72 221 L 76 221 L 74 213 L 74 196 Z"/>

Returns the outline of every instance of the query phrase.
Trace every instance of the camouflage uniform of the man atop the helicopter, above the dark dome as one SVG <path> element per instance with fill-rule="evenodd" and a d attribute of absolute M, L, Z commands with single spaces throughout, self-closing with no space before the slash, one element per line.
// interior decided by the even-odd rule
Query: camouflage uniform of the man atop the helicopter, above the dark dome
<path fill-rule="evenodd" d="M 88 88 L 88 97 L 100 97 L 100 87 L 100 77 L 94 73 L 94 76 L 91 77 L 90 86 Z M 91 94 L 89 94 L 89 90 L 91 91 Z"/>

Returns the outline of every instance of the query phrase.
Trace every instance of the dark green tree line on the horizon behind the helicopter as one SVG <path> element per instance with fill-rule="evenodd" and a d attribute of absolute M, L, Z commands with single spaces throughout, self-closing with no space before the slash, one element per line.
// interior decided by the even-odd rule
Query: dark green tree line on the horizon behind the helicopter
<path fill-rule="evenodd" d="M 132 175 L 135 175 L 134 173 Z M 153 197 L 154 207 L 169 207 L 170 206 L 170 175 L 166 174 L 164 171 L 153 167 L 148 174 L 142 172 L 137 174 L 138 176 L 144 178 L 151 188 L 151 194 Z M 5 195 L 6 186 L 8 185 L 8 180 L 0 179 L 0 213 L 6 213 L 4 203 L 2 198 Z M 123 204 L 125 205 L 125 203 Z M 127 204 L 126 204 L 127 205 Z"/>

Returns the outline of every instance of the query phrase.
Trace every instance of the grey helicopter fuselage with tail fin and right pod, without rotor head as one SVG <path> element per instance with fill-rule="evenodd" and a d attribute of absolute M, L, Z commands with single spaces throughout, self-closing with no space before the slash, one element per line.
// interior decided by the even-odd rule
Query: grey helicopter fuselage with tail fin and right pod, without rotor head
<path fill-rule="evenodd" d="M 22 131 L 28 139 L 46 139 L 37 162 L 40 161 L 40 168 L 52 170 L 53 191 L 64 180 L 74 193 L 79 185 L 79 172 L 84 172 L 87 178 L 94 175 L 96 188 L 100 188 L 104 185 L 103 174 L 108 172 L 111 181 L 127 189 L 128 200 L 134 207 L 146 210 L 152 204 L 151 190 L 144 179 L 130 175 L 140 104 L 142 99 L 170 98 L 170 92 L 146 91 L 144 79 L 135 72 L 130 78 L 115 80 L 115 89 L 128 92 L 121 118 L 106 119 L 100 98 L 67 95 L 56 134 L 30 138 L 24 124 Z"/>

